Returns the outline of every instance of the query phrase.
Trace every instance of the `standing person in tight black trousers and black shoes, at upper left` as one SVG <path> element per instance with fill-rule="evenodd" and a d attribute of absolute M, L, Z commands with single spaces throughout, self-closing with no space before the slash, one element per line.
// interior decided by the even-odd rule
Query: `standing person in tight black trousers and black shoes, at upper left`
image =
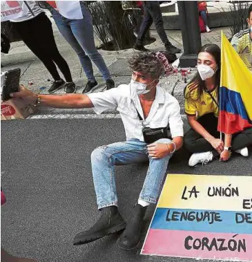
<path fill-rule="evenodd" d="M 48 92 L 55 93 L 65 87 L 66 93 L 75 93 L 76 86 L 66 60 L 61 56 L 52 31 L 52 23 L 45 12 L 39 8 L 36 1 L 27 1 L 30 11 L 22 17 L 10 20 L 14 30 L 17 30 L 23 42 L 46 66 L 54 82 Z M 24 3 L 23 3 L 24 4 Z M 55 64 L 64 75 L 61 79 Z"/>

